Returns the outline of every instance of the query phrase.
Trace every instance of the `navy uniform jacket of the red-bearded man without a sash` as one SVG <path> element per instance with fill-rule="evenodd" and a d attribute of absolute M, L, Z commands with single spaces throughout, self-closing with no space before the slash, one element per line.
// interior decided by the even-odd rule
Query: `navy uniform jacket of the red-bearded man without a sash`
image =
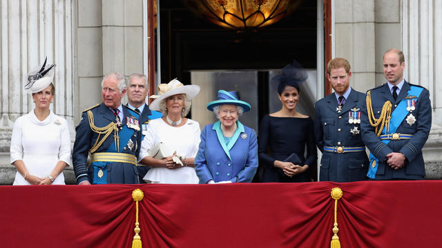
<path fill-rule="evenodd" d="M 323 152 L 319 174 L 321 181 L 344 183 L 365 180 L 369 164 L 365 150 L 341 154 L 324 152 L 324 146 L 365 147 L 361 138 L 361 124 L 349 123 L 349 112 L 355 107 L 361 116 L 367 112 L 364 103 L 365 94 L 353 88 L 340 113 L 336 110 L 338 101 L 334 93 L 316 102 L 315 138 L 316 145 Z"/>

